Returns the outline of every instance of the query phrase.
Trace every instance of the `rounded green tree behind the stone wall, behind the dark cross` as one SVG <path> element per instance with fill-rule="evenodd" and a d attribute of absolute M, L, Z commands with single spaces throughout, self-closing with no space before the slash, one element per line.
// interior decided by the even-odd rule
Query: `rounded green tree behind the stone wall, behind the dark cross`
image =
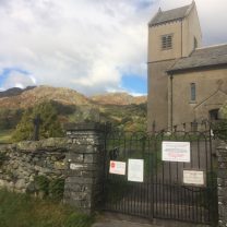
<path fill-rule="evenodd" d="M 22 119 L 13 133 L 13 141 L 31 140 L 33 138 L 33 120 L 37 115 L 40 115 L 41 119 L 41 124 L 39 127 L 40 139 L 58 138 L 63 135 L 55 105 L 52 101 L 44 101 L 36 105 L 33 109 L 29 108 L 24 111 Z"/>

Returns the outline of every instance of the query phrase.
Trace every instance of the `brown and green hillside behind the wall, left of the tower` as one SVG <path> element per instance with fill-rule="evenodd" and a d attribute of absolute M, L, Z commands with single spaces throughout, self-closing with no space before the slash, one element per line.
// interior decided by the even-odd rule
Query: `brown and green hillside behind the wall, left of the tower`
<path fill-rule="evenodd" d="M 38 86 L 21 91 L 19 95 L 0 97 L 0 132 L 13 131 L 25 109 L 46 100 L 55 106 L 62 126 L 68 122 L 108 121 L 122 130 L 146 129 L 145 96 L 133 97 L 127 93 L 117 93 L 88 98 L 69 88 Z"/>

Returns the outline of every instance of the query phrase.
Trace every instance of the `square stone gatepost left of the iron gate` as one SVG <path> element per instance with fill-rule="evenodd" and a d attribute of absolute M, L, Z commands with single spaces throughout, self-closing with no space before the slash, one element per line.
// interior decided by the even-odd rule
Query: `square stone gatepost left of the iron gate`
<path fill-rule="evenodd" d="M 69 153 L 64 202 L 89 214 L 103 199 L 105 126 L 70 124 L 67 135 Z"/>

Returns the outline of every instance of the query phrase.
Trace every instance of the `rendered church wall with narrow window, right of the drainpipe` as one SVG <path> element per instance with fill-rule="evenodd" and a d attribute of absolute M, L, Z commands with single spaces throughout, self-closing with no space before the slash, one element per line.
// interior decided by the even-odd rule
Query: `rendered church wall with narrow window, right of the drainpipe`
<path fill-rule="evenodd" d="M 226 74 L 227 69 L 210 69 L 174 75 L 174 126 L 192 122 L 194 119 L 208 120 L 208 111 L 218 109 L 227 98 Z M 191 100 L 191 83 L 195 83 L 195 101 Z"/>

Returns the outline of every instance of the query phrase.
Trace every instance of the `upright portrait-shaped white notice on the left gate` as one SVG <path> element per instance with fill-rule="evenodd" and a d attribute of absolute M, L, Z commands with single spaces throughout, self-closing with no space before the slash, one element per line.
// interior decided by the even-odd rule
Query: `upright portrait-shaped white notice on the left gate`
<path fill-rule="evenodd" d="M 144 160 L 129 159 L 128 164 L 128 180 L 143 182 Z"/>

